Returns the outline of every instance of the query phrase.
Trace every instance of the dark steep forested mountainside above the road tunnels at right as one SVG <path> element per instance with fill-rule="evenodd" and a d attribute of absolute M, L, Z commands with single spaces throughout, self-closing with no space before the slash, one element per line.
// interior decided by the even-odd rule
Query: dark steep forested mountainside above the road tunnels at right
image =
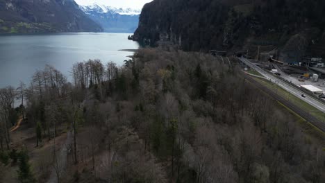
<path fill-rule="evenodd" d="M 324 9 L 322 0 L 154 0 L 144 6 L 134 38 L 208 51 L 251 43 L 284 46 L 299 34 L 308 46 L 324 42 Z"/>

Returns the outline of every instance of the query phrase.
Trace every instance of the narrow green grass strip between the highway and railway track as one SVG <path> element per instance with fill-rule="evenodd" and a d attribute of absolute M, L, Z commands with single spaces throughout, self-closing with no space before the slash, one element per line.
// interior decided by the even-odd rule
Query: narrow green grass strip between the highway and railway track
<path fill-rule="evenodd" d="M 309 105 L 305 101 L 302 101 L 301 98 L 298 98 L 297 96 L 294 96 L 290 94 L 290 92 L 285 91 L 285 89 L 278 87 L 278 85 L 275 85 L 272 82 L 269 82 L 268 80 L 263 80 L 260 78 L 254 78 L 254 80 L 260 82 L 261 84 L 265 85 L 265 87 L 268 87 L 269 89 L 272 89 L 276 94 L 282 96 L 283 98 L 287 99 L 288 101 L 294 103 L 294 105 L 297 105 L 301 107 L 302 110 L 305 110 L 309 114 L 315 116 L 320 121 L 324 120 L 325 114 L 321 112 L 320 110 L 317 110 L 312 105 Z"/>

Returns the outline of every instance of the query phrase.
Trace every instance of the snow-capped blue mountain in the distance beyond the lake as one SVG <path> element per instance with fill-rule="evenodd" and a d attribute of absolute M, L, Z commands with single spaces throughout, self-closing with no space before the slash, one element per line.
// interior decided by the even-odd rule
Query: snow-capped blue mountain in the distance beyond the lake
<path fill-rule="evenodd" d="M 81 10 L 103 27 L 105 32 L 133 33 L 139 24 L 140 10 L 109 6 L 81 6 Z"/>

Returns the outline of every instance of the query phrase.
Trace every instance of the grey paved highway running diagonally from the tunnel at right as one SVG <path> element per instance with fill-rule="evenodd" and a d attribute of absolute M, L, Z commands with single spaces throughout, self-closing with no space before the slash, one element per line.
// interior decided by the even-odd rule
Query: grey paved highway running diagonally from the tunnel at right
<path fill-rule="evenodd" d="M 262 76 L 267 78 L 267 80 L 270 80 L 271 82 L 274 82 L 276 85 L 278 85 L 279 87 L 285 89 L 287 92 L 290 92 L 294 96 L 297 96 L 298 98 L 301 98 L 302 101 L 305 101 L 306 103 L 308 103 L 308 104 L 312 105 L 313 107 L 317 108 L 317 110 L 320 110 L 320 111 L 325 113 L 325 105 L 324 105 L 324 103 L 321 103 L 321 102 L 317 101 L 315 98 L 309 96 L 308 94 L 300 91 L 299 89 L 296 89 L 296 88 L 292 87 L 291 85 L 289 85 L 286 82 L 283 82 L 283 80 L 276 78 L 275 76 L 273 76 L 272 73 L 264 71 L 263 69 L 256 66 L 256 64 L 253 64 L 252 62 L 250 62 L 246 58 L 238 58 L 238 59 L 241 62 L 243 62 L 244 64 L 247 64 L 248 67 L 251 67 L 252 69 L 255 69 L 256 71 L 258 71 Z M 303 98 L 301 96 L 301 94 L 304 94 L 306 96 L 306 98 Z"/>

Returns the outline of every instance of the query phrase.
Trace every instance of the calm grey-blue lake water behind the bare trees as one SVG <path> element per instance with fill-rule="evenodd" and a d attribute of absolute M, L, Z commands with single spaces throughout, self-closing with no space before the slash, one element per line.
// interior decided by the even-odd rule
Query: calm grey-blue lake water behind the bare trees
<path fill-rule="evenodd" d="M 60 33 L 51 35 L 0 36 L 0 88 L 31 81 L 38 69 L 49 64 L 71 81 L 72 65 L 88 59 L 122 65 L 139 44 L 124 33 Z"/>

